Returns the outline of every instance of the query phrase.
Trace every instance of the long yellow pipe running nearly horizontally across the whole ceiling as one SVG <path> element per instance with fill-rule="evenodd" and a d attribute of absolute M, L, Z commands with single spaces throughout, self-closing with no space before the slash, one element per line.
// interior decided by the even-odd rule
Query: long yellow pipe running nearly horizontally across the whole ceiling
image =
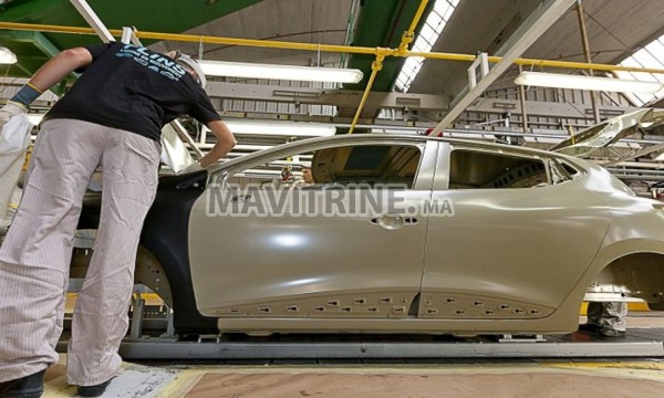
<path fill-rule="evenodd" d="M 33 24 L 33 23 L 0 22 L 0 29 L 96 35 L 96 33 L 94 32 L 94 30 L 92 28 L 62 27 L 62 25 L 48 25 L 48 24 Z M 113 34 L 114 36 L 117 36 L 117 38 L 122 36 L 121 30 L 111 29 L 110 31 L 111 31 L 111 34 Z M 280 42 L 280 41 L 273 41 L 273 40 L 217 38 L 217 36 L 208 36 L 208 35 L 194 35 L 194 34 L 157 33 L 157 32 L 136 31 L 136 36 L 138 36 L 139 39 L 172 40 L 172 41 L 208 43 L 208 44 L 230 44 L 230 45 L 259 46 L 259 48 L 269 48 L 269 49 L 346 52 L 346 53 L 352 53 L 352 54 L 376 54 L 376 55 L 378 53 L 377 48 L 311 44 L 311 43 L 298 43 L 298 42 Z M 422 57 L 432 59 L 432 60 L 467 61 L 467 62 L 473 62 L 477 59 L 477 55 L 469 55 L 469 54 L 442 53 L 442 52 L 428 52 L 427 53 L 427 52 L 416 52 L 416 51 L 405 51 L 405 52 L 401 53 L 401 52 L 398 52 L 398 50 L 390 50 L 387 52 L 387 55 L 391 55 L 391 56 L 422 56 Z M 501 56 L 489 56 L 488 57 L 488 61 L 491 63 L 497 63 L 501 60 L 502 60 Z M 513 61 L 513 64 L 523 65 L 523 66 L 532 66 L 532 67 L 535 67 L 535 66 L 560 67 L 560 69 L 575 69 L 575 70 L 595 70 L 595 71 L 606 71 L 606 72 L 624 71 L 624 72 L 643 72 L 643 73 L 664 74 L 664 70 L 662 70 L 662 69 L 632 67 L 632 66 L 620 66 L 620 65 L 610 65 L 610 64 L 569 62 L 569 61 L 549 61 L 549 60 L 536 60 L 536 59 L 516 59 Z"/>

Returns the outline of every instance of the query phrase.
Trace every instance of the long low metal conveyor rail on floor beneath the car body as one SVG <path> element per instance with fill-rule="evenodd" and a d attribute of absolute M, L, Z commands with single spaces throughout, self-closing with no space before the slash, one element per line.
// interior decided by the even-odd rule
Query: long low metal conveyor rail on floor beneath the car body
<path fill-rule="evenodd" d="M 173 331 L 160 337 L 141 334 L 143 298 L 136 294 L 131 334 L 122 342 L 125 359 L 376 359 L 376 358 L 570 358 L 664 357 L 664 328 L 631 328 L 625 337 L 605 339 L 584 332 L 556 335 L 291 334 L 246 336 L 203 334 L 179 341 Z M 170 311 L 168 311 L 170 313 Z M 136 320 L 138 318 L 138 320 Z M 56 349 L 66 350 L 66 342 Z"/>

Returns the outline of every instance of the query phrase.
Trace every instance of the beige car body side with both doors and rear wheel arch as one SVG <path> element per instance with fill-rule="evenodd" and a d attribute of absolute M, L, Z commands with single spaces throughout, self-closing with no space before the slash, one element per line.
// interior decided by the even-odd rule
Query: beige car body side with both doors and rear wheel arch
<path fill-rule="evenodd" d="M 588 292 L 664 305 L 661 202 L 569 156 L 454 139 L 331 137 L 231 160 L 209 182 L 294 149 L 349 143 L 426 143 L 408 200 L 449 198 L 455 216 L 395 231 L 367 218 L 208 218 L 204 196 L 189 224 L 191 274 L 199 310 L 219 317 L 221 331 L 562 333 L 577 328 Z M 529 188 L 448 189 L 450 145 L 540 159 L 548 184 L 535 172 Z M 561 180 L 554 168 L 569 176 Z M 274 244 L 283 233 L 307 243 Z"/>

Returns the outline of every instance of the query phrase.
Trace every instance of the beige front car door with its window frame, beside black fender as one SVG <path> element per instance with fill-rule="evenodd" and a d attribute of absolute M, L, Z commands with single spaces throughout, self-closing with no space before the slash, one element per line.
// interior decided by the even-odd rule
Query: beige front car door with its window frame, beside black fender
<path fill-rule="evenodd" d="M 437 143 L 338 138 L 235 166 L 225 177 L 232 186 L 208 186 L 190 218 L 199 311 L 219 317 L 406 316 L 419 291 L 426 232 L 426 220 L 408 209 L 430 198 L 436 156 Z M 315 182 L 294 180 L 303 167 Z M 400 186 L 378 187 L 385 182 Z M 372 195 L 369 202 L 397 201 L 397 211 L 365 211 Z M 210 214 L 215 197 L 231 198 L 217 207 L 222 216 Z"/>

